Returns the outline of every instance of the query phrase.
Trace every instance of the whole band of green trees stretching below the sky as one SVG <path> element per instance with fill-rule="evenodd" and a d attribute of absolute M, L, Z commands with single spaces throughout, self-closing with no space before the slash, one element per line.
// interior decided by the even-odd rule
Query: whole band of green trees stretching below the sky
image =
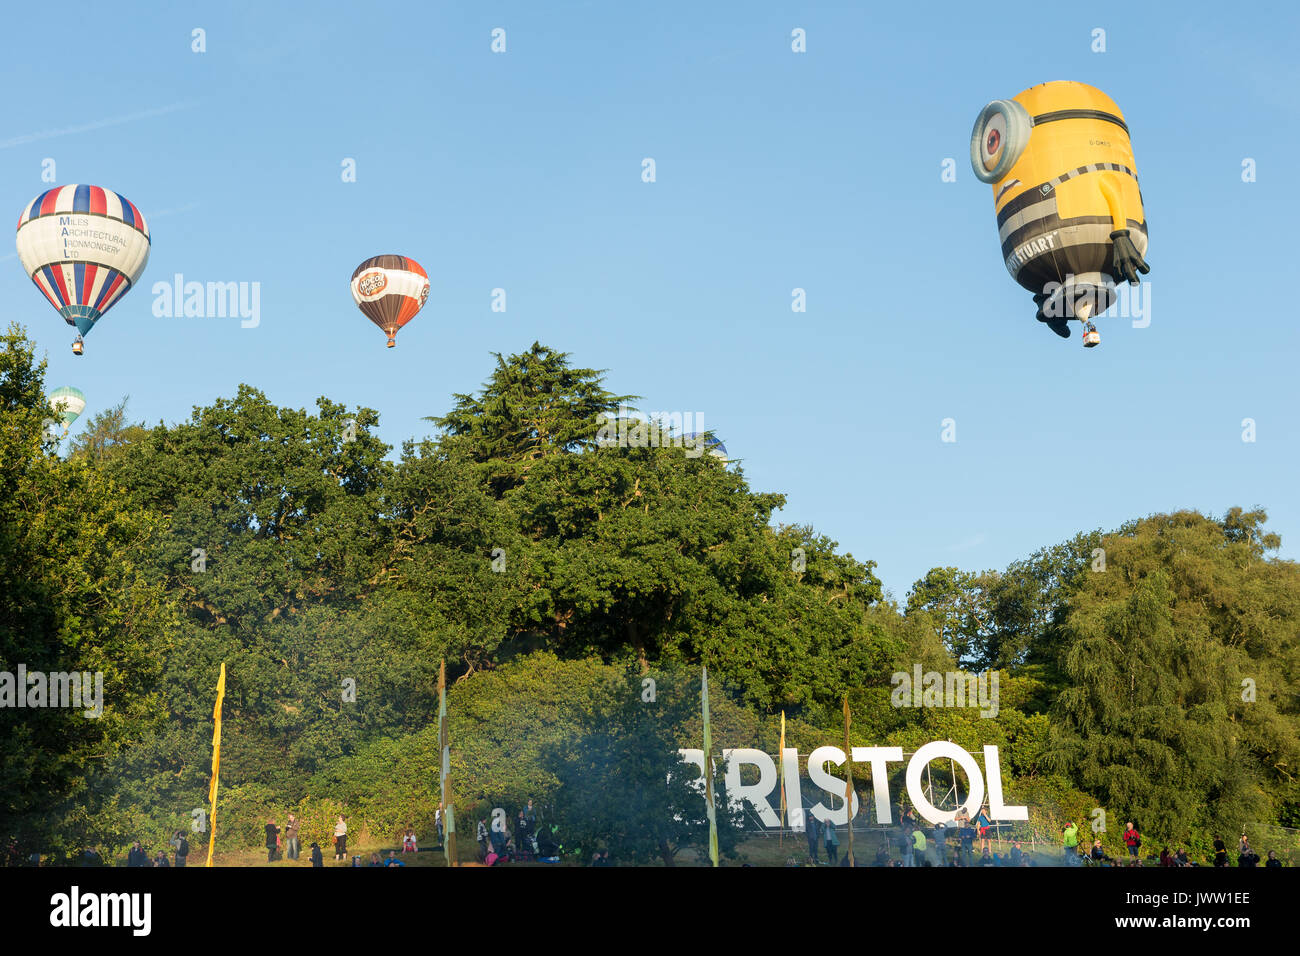
<path fill-rule="evenodd" d="M 17 328 L 0 346 L 4 670 L 104 675 L 99 719 L 0 709 L 0 826 L 32 844 L 188 826 L 222 661 L 224 845 L 277 808 L 426 826 L 443 659 L 465 818 L 532 796 L 584 852 L 698 845 L 667 771 L 699 745 L 701 666 L 720 747 L 775 750 L 781 713 L 792 745 L 832 743 L 848 696 L 863 744 L 1002 745 L 1010 800 L 1170 839 L 1300 825 L 1300 570 L 1261 509 L 936 567 L 900 607 L 740 464 L 598 441 L 633 397 L 540 343 L 399 450 L 374 410 L 240 385 L 152 427 L 124 399 L 65 458 L 43 363 Z M 915 665 L 1001 671 L 997 718 L 892 706 Z"/>

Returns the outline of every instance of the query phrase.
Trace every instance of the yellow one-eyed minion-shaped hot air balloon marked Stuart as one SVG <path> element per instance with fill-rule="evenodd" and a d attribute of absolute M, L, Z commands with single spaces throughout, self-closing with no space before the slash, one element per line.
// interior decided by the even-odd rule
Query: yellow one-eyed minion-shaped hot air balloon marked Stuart
<path fill-rule="evenodd" d="M 993 186 L 1006 271 L 1034 293 L 1037 320 L 1069 338 L 1066 321 L 1078 319 L 1083 343 L 1097 345 L 1091 319 L 1110 308 L 1115 282 L 1138 285 L 1138 273 L 1150 272 L 1119 107 L 1101 90 L 1066 81 L 993 100 L 975 121 L 971 165 Z"/>

